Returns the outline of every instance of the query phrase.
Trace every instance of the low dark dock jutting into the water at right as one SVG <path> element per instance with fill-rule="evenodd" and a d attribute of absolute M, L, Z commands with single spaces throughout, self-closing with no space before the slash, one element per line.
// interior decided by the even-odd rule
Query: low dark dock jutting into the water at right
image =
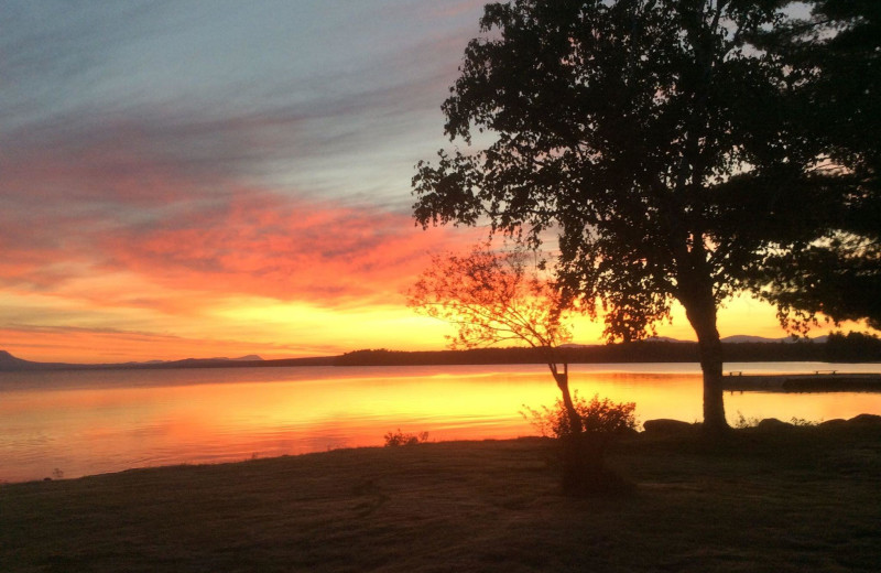
<path fill-rule="evenodd" d="M 881 374 L 816 370 L 813 374 L 725 372 L 722 388 L 732 392 L 881 392 Z"/>

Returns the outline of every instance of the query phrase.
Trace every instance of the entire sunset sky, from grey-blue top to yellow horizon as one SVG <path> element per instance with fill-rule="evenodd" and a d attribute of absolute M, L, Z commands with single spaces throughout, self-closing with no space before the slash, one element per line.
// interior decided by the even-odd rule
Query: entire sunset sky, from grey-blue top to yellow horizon
<path fill-rule="evenodd" d="M 440 349 L 402 292 L 420 159 L 483 0 L 10 0 L 0 349 L 31 360 Z M 575 342 L 599 342 L 579 321 Z M 817 331 L 824 334 L 828 328 Z M 722 336 L 783 336 L 749 296 Z M 659 333 L 694 338 L 682 313 Z"/>

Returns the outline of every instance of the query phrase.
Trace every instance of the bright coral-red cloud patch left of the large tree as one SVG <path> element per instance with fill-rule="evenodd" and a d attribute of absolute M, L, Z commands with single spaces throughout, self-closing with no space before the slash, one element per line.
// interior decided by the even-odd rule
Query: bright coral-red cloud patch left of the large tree
<path fill-rule="evenodd" d="M 406 214 L 240 191 L 224 208 L 102 237 L 107 264 L 170 289 L 340 304 L 388 300 L 428 251 L 465 241 Z"/>

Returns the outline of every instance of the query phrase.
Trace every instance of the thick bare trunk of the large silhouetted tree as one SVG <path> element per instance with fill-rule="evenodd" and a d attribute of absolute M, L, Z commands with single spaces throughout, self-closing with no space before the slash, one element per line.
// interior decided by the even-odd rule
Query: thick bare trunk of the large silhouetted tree
<path fill-rule="evenodd" d="M 700 370 L 704 372 L 704 428 L 710 433 L 728 430 L 722 391 L 722 344 L 716 327 L 716 301 L 711 292 L 682 301 L 697 334 Z"/>

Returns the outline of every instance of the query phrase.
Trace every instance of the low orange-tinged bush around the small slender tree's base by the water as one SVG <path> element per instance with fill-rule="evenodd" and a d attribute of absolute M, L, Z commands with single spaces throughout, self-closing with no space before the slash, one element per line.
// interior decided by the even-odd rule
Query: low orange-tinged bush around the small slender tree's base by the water
<path fill-rule="evenodd" d="M 614 435 L 637 428 L 634 402 L 612 402 L 608 398 L 600 399 L 599 394 L 594 394 L 594 398 L 587 401 L 578 396 L 578 391 L 573 394 L 572 401 L 581 418 L 586 433 Z M 527 406 L 523 408 L 525 411 L 520 414 L 542 435 L 565 437 L 572 434 L 569 417 L 562 399 L 557 398 L 554 408 L 546 406 L 540 410 Z"/>

